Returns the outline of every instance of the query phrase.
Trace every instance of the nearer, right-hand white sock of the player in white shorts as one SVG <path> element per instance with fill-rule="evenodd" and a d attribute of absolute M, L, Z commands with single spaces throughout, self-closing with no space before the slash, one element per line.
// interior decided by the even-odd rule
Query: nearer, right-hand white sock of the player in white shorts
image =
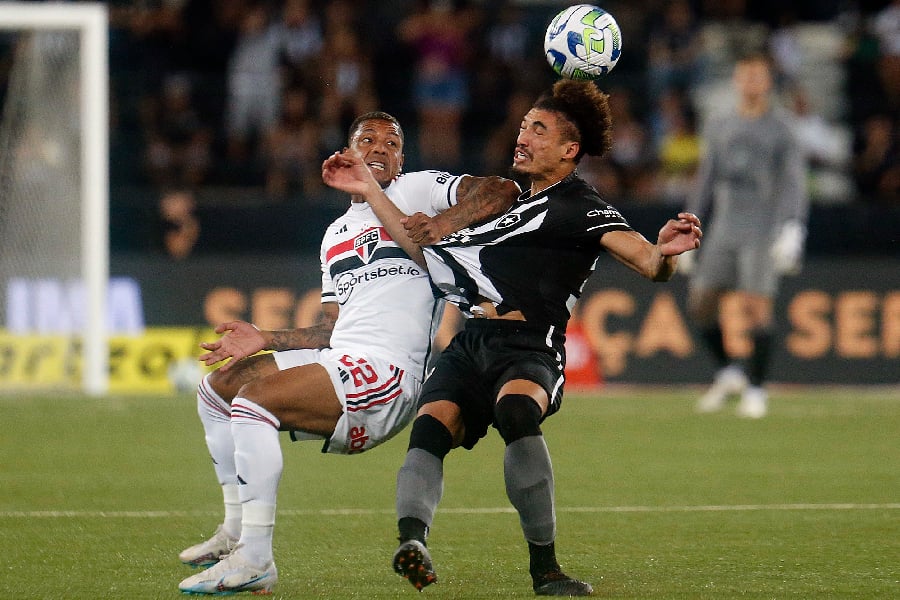
<path fill-rule="evenodd" d="M 231 403 L 238 496 L 242 505 L 241 553 L 263 567 L 272 560 L 275 500 L 284 459 L 275 415 L 246 398 Z"/>

